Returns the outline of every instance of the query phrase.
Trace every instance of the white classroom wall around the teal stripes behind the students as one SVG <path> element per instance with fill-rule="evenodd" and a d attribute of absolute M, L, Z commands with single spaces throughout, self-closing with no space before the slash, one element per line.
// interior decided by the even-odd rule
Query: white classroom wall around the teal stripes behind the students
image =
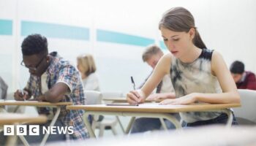
<path fill-rule="evenodd" d="M 158 22 L 170 7 L 186 7 L 195 17 L 200 35 L 208 48 L 222 53 L 227 66 L 238 59 L 246 69 L 256 72 L 256 1 L 254 0 L 0 0 L 0 20 L 12 20 L 12 35 L 0 34 L 0 76 L 18 88 L 18 80 L 26 84 L 29 73 L 20 66 L 21 21 L 53 23 L 84 27 L 90 39 L 48 37 L 50 51 L 57 50 L 75 64 L 81 53 L 92 53 L 96 59 L 102 91 L 130 91 L 129 77 L 137 85 L 143 82 L 150 68 L 143 64 L 144 46 L 97 42 L 97 29 L 116 31 L 161 40 Z M 1 29 L 1 26 L 0 26 Z"/>

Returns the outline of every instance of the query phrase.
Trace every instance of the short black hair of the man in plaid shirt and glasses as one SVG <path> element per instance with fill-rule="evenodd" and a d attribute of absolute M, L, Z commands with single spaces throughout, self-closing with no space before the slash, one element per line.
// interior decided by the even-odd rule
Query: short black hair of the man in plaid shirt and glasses
<path fill-rule="evenodd" d="M 31 34 L 23 40 L 21 50 L 23 55 L 48 53 L 47 39 L 41 34 Z"/>

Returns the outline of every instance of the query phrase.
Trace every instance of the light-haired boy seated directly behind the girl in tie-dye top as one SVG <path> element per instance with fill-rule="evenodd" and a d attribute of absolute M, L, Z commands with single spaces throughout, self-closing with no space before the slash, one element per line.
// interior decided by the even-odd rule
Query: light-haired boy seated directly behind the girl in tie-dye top
<path fill-rule="evenodd" d="M 162 53 L 160 47 L 158 47 L 157 45 L 149 45 L 143 52 L 142 59 L 143 62 L 146 62 L 148 66 L 151 66 L 151 68 L 154 69 L 163 55 L 164 53 Z M 148 77 L 146 78 L 146 81 L 147 80 Z M 141 88 L 145 84 L 145 82 L 143 82 L 143 84 L 140 85 L 139 88 Z M 166 74 L 165 77 L 163 77 L 162 81 L 159 82 L 159 84 L 157 85 L 155 93 L 151 93 L 147 99 L 152 101 L 161 101 L 163 99 L 174 98 L 176 98 L 176 96 L 174 93 L 173 84 L 170 80 L 170 74 Z M 178 114 L 172 115 L 175 116 L 177 119 L 180 119 Z M 175 128 L 173 123 L 170 123 L 168 120 L 165 120 L 165 124 L 169 129 Z M 162 123 L 160 122 L 159 118 L 138 118 L 135 120 L 135 123 L 132 124 L 131 133 L 134 134 L 145 131 L 159 130 L 161 126 Z"/>

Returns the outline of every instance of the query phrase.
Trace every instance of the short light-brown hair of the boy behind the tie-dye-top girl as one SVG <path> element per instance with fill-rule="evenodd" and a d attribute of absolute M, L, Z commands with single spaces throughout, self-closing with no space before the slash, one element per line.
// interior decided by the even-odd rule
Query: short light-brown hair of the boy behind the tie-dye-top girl
<path fill-rule="evenodd" d="M 152 57 L 152 55 L 156 55 L 158 53 L 162 53 L 162 50 L 157 45 L 150 45 L 146 47 L 146 50 L 143 52 L 142 60 L 144 62 L 148 61 L 149 58 Z"/>

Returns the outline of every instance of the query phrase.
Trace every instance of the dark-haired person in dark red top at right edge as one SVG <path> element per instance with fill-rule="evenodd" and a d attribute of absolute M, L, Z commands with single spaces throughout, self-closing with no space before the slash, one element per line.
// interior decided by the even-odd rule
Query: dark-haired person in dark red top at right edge
<path fill-rule="evenodd" d="M 238 89 L 256 90 L 256 78 L 252 72 L 244 71 L 244 64 L 241 61 L 234 61 L 230 66 L 230 72 L 236 82 Z"/>

